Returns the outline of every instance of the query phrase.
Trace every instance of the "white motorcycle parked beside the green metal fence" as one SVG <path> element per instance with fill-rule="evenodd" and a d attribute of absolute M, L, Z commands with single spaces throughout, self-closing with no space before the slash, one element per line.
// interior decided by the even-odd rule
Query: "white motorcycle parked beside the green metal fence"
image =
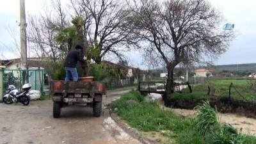
<path fill-rule="evenodd" d="M 3 97 L 3 102 L 5 104 L 20 102 L 24 106 L 28 106 L 30 101 L 30 96 L 29 96 L 30 88 L 31 88 L 31 84 L 24 84 L 22 86 L 22 92 L 19 92 L 19 90 L 17 90 L 14 85 L 9 85 L 8 88 L 6 88 L 6 95 L 4 95 Z"/>

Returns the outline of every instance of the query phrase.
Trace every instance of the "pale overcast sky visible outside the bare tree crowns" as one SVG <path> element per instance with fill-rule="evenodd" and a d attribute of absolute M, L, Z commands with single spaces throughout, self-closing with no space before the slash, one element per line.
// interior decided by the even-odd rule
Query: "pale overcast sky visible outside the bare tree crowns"
<path fill-rule="evenodd" d="M 50 0 L 45 0 L 50 1 Z M 213 6 L 216 6 L 223 13 L 227 22 L 235 24 L 235 30 L 239 35 L 232 42 L 225 54 L 222 54 L 216 65 L 240 64 L 240 63 L 256 63 L 256 1 L 243 0 L 210 0 Z M 28 13 L 36 13 L 42 5 L 42 0 L 25 0 L 26 15 Z M 8 29 L 16 31 L 15 36 L 19 40 L 19 22 L 20 11 L 19 0 L 1 1 L 0 5 L 0 58 L 2 60 L 19 58 L 13 55 L 9 50 L 13 47 L 13 36 L 10 35 Z M 12 45 L 12 46 L 11 46 Z M 140 65 L 141 56 L 131 54 L 131 63 Z"/>

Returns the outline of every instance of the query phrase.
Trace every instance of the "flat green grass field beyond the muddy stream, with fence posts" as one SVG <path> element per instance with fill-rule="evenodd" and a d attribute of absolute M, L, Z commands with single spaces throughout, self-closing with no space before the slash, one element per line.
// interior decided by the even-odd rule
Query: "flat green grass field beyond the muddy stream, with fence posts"
<path fill-rule="evenodd" d="M 192 86 L 192 93 L 188 88 L 182 90 L 182 93 L 173 93 L 171 99 L 205 99 L 209 97 L 228 97 L 230 84 L 231 97 L 234 99 L 256 102 L 256 80 L 253 79 L 209 79 L 209 83 Z M 208 95 L 208 86 L 210 93 Z M 242 96 L 241 96 L 241 95 Z"/>

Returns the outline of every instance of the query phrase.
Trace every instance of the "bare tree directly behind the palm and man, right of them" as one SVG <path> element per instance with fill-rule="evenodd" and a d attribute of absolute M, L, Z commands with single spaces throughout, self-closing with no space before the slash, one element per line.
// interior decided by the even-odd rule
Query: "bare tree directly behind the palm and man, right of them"
<path fill-rule="evenodd" d="M 74 0 L 71 1 L 76 15 L 84 19 L 84 40 L 86 54 L 96 63 L 100 63 L 107 54 L 122 58 L 121 52 L 135 44 L 125 19 L 129 11 L 118 0 Z"/>

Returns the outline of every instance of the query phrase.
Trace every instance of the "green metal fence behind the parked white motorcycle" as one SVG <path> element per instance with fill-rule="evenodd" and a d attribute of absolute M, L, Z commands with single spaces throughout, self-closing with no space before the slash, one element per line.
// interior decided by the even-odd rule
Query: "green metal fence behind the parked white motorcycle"
<path fill-rule="evenodd" d="M 31 84 L 31 90 L 39 90 L 44 93 L 44 77 L 45 72 L 42 69 L 28 69 L 28 70 L 8 70 L 2 69 L 3 72 L 3 87 L 2 92 L 9 84 L 13 84 L 17 90 L 22 90 L 22 85 L 25 83 Z"/>

